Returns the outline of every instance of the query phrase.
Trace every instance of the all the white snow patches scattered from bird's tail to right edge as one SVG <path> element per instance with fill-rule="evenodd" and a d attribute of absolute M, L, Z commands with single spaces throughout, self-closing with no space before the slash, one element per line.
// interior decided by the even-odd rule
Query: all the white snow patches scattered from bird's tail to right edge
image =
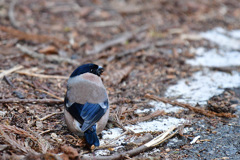
<path fill-rule="evenodd" d="M 200 36 L 218 47 L 216 49 L 203 47 L 194 49 L 193 52 L 196 54 L 196 57 L 195 59 L 187 60 L 187 63 L 193 66 L 202 66 L 202 71 L 198 71 L 192 77 L 181 79 L 176 85 L 170 86 L 165 93 L 166 97 L 173 97 L 180 102 L 192 105 L 196 103 L 204 105 L 210 97 L 222 93 L 224 88 L 240 86 L 239 72 L 233 71 L 229 74 L 209 69 L 209 67 L 240 66 L 240 30 L 227 31 L 223 28 L 215 28 L 200 33 Z M 155 107 L 152 109 L 137 110 L 136 112 L 154 112 L 158 109 L 165 112 L 177 112 L 182 109 L 156 101 L 152 101 L 150 104 Z M 153 121 L 140 122 L 135 125 L 126 126 L 126 128 L 132 129 L 136 133 L 163 131 L 185 121 L 185 119 L 175 117 L 158 117 Z M 114 139 L 122 133 L 123 131 L 119 128 L 103 131 L 103 139 L 100 143 L 104 144 L 106 141 Z M 118 138 L 115 142 L 120 145 L 121 142 L 124 142 L 124 138 L 125 136 Z M 103 155 L 105 152 L 98 151 L 97 154 Z"/>

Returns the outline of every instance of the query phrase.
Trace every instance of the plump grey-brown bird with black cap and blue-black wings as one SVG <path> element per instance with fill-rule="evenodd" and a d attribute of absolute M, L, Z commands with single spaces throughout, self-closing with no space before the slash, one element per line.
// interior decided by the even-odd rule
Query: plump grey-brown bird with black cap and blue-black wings
<path fill-rule="evenodd" d="M 67 81 L 64 99 L 68 129 L 96 147 L 109 118 L 108 94 L 100 77 L 103 71 L 103 67 L 93 63 L 79 66 Z"/>

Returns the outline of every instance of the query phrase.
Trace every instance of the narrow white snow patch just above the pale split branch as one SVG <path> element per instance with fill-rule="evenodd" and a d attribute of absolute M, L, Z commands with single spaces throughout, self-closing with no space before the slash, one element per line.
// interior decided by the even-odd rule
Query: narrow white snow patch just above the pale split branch
<path fill-rule="evenodd" d="M 140 122 L 136 125 L 128 125 L 127 129 L 133 130 L 135 133 L 147 132 L 147 131 L 164 131 L 171 126 L 177 126 L 185 122 L 185 119 L 178 119 L 175 117 L 168 117 L 167 119 L 159 118 L 153 121 Z"/>

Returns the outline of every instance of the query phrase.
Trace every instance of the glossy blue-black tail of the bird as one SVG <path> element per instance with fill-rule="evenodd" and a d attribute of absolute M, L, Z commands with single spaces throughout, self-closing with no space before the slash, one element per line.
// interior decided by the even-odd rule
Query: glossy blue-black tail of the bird
<path fill-rule="evenodd" d="M 91 146 L 99 146 L 99 139 L 97 137 L 96 125 L 93 125 L 88 130 L 84 132 L 87 143 Z"/>

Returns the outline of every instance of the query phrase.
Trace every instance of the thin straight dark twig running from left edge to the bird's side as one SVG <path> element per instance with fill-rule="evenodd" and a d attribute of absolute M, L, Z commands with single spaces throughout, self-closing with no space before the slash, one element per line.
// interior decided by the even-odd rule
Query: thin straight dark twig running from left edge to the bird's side
<path fill-rule="evenodd" d="M 0 99 L 0 103 L 47 103 L 47 104 L 61 104 L 63 101 L 58 99 Z"/>

